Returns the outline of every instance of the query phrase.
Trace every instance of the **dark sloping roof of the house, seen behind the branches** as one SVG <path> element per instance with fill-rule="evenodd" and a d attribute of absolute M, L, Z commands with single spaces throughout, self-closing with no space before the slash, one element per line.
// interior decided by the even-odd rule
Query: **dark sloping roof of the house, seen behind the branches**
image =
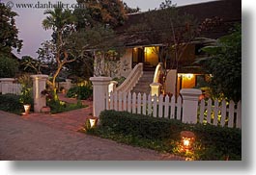
<path fill-rule="evenodd" d="M 179 10 L 179 13 L 190 14 L 194 16 L 198 22 L 203 22 L 206 18 L 213 18 L 216 16 L 221 18 L 221 25 L 217 26 L 211 31 L 201 34 L 200 37 L 204 38 L 220 38 L 224 35 L 227 35 L 234 23 L 242 22 L 241 0 L 220 0 L 201 4 L 187 5 L 177 8 Z M 143 25 L 145 15 L 151 15 L 152 13 L 159 12 L 160 11 L 128 14 L 128 20 L 126 21 L 126 23 L 116 29 L 119 38 L 121 38 L 125 42 L 126 46 L 130 47 L 161 44 L 162 40 L 160 38 L 156 37 L 156 39 L 154 39 L 153 41 L 145 38 L 144 35 L 141 35 L 142 33 L 152 33 L 152 31 L 128 31 L 128 29 L 134 25 Z M 163 31 L 164 29 L 162 29 L 162 32 Z"/>

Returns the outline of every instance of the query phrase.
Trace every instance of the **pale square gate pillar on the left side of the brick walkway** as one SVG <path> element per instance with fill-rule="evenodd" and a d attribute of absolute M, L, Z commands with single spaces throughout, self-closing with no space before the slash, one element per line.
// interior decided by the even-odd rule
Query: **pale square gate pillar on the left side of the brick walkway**
<path fill-rule="evenodd" d="M 48 75 L 31 75 L 33 79 L 34 112 L 41 112 L 46 106 L 46 98 L 41 92 L 46 87 Z"/>

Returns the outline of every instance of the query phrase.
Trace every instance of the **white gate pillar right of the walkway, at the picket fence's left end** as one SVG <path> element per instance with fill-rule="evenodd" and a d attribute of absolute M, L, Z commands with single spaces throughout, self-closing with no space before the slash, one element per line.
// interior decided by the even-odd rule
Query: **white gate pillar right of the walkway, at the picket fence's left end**
<path fill-rule="evenodd" d="M 110 77 L 91 77 L 90 81 L 94 87 L 94 116 L 100 116 L 100 112 L 105 110 L 105 95 L 108 93 Z"/>

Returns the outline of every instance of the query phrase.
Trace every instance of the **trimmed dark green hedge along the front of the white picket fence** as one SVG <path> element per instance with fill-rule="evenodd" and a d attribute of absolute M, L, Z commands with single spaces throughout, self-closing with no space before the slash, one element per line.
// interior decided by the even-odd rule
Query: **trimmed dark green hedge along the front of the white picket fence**
<path fill-rule="evenodd" d="M 210 124 L 185 124 L 175 119 L 156 118 L 129 112 L 104 111 L 100 113 L 100 129 L 114 135 L 141 137 L 152 140 L 181 139 L 180 133 L 188 130 L 196 135 L 198 145 L 204 147 L 201 160 L 241 160 L 241 129 Z"/>

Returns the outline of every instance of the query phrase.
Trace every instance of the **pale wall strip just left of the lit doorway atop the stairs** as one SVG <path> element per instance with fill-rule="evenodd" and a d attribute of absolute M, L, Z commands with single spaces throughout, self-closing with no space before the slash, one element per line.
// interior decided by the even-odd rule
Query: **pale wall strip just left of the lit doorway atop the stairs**
<path fill-rule="evenodd" d="M 120 61 L 120 75 L 127 78 L 132 70 L 132 48 L 126 50 L 126 53 L 120 58 Z"/>

